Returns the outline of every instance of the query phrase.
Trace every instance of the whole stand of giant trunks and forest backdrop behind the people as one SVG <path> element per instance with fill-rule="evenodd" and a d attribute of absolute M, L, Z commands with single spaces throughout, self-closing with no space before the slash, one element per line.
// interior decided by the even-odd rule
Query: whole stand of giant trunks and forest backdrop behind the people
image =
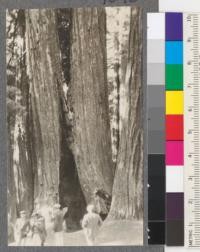
<path fill-rule="evenodd" d="M 7 12 L 8 212 L 69 207 L 95 189 L 108 218 L 143 218 L 142 12 Z"/>

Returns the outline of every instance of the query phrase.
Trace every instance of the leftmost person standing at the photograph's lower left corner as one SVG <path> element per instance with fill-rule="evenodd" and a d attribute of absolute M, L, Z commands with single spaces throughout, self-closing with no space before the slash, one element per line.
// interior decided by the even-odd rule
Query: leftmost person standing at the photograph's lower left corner
<path fill-rule="evenodd" d="M 27 218 L 26 211 L 20 212 L 20 218 L 17 219 L 15 224 L 15 239 L 17 246 L 24 246 L 27 234 L 30 231 L 30 222 Z"/>

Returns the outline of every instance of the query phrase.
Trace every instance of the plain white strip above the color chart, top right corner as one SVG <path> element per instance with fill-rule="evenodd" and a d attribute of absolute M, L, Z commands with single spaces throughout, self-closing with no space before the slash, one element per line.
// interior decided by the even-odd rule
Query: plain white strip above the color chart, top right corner
<path fill-rule="evenodd" d="M 199 0 L 159 0 L 160 12 L 200 12 Z"/>

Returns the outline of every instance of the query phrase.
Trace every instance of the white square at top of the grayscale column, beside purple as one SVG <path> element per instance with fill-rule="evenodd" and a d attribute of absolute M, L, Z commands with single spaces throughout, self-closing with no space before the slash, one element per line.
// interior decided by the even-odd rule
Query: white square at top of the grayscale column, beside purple
<path fill-rule="evenodd" d="M 147 38 L 165 40 L 165 14 L 147 14 Z"/>

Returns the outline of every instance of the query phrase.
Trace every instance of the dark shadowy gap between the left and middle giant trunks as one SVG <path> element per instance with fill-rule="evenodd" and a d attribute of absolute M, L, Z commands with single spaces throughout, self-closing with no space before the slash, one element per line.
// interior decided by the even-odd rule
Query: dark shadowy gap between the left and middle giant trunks
<path fill-rule="evenodd" d="M 57 30 L 61 50 L 62 70 L 65 81 L 60 86 L 60 125 L 61 125 L 61 157 L 59 199 L 62 206 L 68 207 L 67 231 L 80 229 L 80 220 L 85 213 L 85 198 L 81 190 L 72 152 L 72 124 L 67 100 L 70 83 L 70 49 L 72 29 L 72 9 L 57 9 Z"/>

